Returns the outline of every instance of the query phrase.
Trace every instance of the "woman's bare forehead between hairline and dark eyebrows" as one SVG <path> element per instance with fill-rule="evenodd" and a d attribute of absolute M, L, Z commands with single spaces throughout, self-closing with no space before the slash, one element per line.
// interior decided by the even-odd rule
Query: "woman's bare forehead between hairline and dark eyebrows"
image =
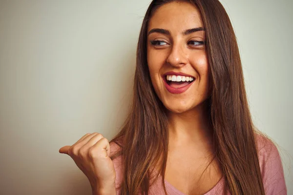
<path fill-rule="evenodd" d="M 152 28 L 163 28 L 176 33 L 196 27 L 203 27 L 201 15 L 195 6 L 188 2 L 174 1 L 162 5 L 148 23 L 148 31 Z"/>

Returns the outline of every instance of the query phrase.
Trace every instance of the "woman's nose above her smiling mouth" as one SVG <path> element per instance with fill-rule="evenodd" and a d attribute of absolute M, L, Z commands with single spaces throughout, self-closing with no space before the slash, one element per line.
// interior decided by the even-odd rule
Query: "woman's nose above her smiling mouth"
<path fill-rule="evenodd" d="M 178 68 L 185 66 L 188 60 L 183 47 L 184 46 L 181 46 L 179 44 L 174 44 L 167 58 L 167 63 Z"/>

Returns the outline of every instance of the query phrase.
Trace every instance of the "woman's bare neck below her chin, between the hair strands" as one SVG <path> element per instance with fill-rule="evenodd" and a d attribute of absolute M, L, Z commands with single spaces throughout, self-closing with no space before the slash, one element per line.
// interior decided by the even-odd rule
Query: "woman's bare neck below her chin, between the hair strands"
<path fill-rule="evenodd" d="M 204 104 L 184 113 L 168 113 L 169 141 L 175 144 L 211 144 L 212 131 Z M 204 145 L 206 145 L 204 144 Z"/>

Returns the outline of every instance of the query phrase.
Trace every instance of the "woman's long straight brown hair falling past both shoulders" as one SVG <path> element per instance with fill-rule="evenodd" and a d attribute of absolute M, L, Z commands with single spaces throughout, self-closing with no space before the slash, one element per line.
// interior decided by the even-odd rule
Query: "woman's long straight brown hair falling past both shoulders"
<path fill-rule="evenodd" d="M 123 156 L 121 195 L 149 193 L 153 168 L 162 153 L 159 173 L 167 194 L 164 184 L 168 148 L 167 114 L 150 80 L 146 33 L 154 11 L 172 1 L 176 0 L 153 0 L 146 11 L 137 46 L 130 112 L 122 130 L 111 140 L 121 147 L 111 158 Z M 206 30 L 210 97 L 205 103 L 213 129 L 215 156 L 223 172 L 226 190 L 232 195 L 265 195 L 254 138 L 255 128 L 230 19 L 218 0 L 181 1 L 197 7 Z"/>

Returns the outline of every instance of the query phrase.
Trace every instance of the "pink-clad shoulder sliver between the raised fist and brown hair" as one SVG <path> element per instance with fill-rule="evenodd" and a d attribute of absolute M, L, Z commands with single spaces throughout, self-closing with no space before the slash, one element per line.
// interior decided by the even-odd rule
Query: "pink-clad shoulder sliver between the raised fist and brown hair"
<path fill-rule="evenodd" d="M 121 150 L 120 146 L 116 144 L 115 142 L 110 142 L 110 156 L 115 155 L 117 152 Z M 119 186 L 121 185 L 121 182 L 123 180 L 123 166 L 122 166 L 122 156 L 117 156 L 114 159 L 112 159 L 114 169 L 116 172 L 116 180 L 115 180 L 115 187 L 117 195 L 120 194 Z"/>

